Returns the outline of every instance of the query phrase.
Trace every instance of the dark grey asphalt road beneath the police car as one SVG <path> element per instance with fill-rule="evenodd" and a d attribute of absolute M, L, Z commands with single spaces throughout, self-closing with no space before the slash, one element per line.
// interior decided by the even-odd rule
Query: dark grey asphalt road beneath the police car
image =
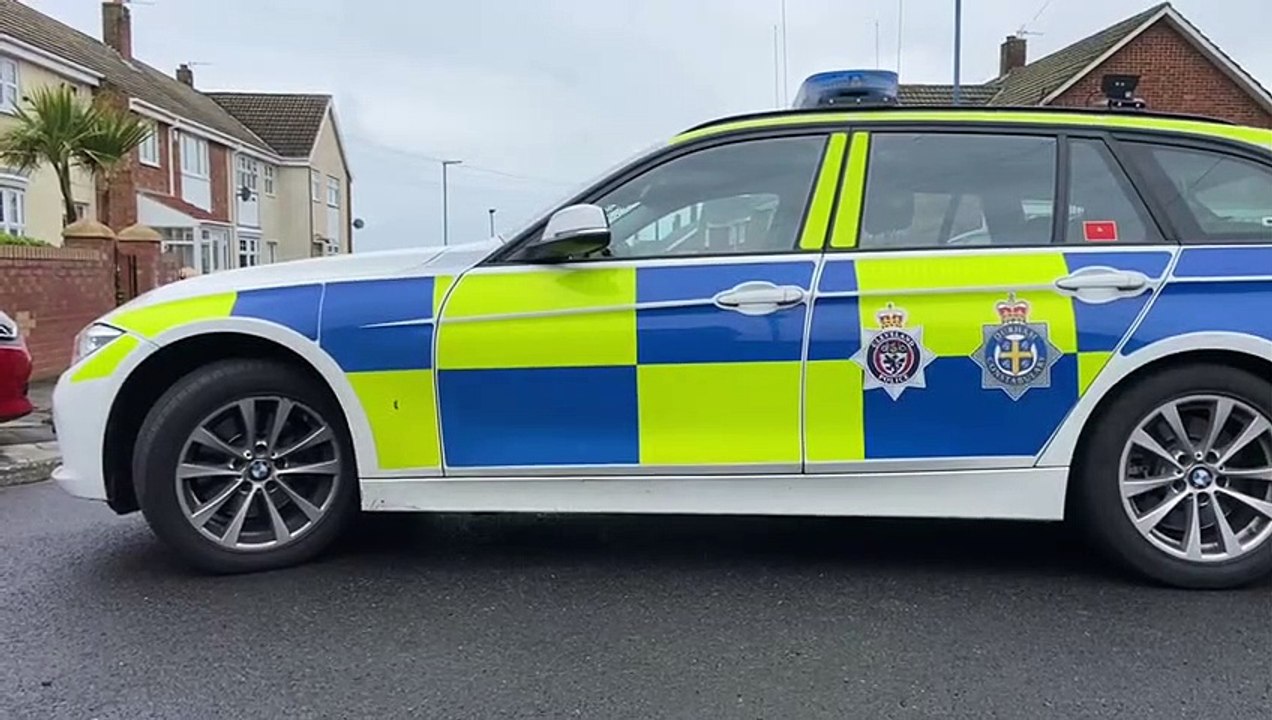
<path fill-rule="evenodd" d="M 1272 716 L 1272 585 L 1145 586 L 1061 527 L 377 516 L 204 578 L 0 490 L 0 717 Z"/>

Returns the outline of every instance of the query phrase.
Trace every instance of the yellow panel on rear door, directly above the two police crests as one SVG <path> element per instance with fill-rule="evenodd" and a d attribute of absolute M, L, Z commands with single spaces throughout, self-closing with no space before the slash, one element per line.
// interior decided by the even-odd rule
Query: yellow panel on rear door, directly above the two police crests
<path fill-rule="evenodd" d="M 906 310 L 907 327 L 923 328 L 923 345 L 941 357 L 976 352 L 985 343 L 985 326 L 1002 322 L 997 305 L 1009 300 L 1010 291 L 974 289 L 1049 287 L 1067 272 L 1058 252 L 865 258 L 856 270 L 862 326 L 876 327 L 875 313 L 893 303 Z M 894 295 L 892 289 L 923 293 Z M 1068 298 L 1034 289 L 1015 293 L 1015 300 L 1028 304 L 1029 323 L 1047 324 L 1048 340 L 1061 352 L 1077 351 L 1077 324 Z"/>

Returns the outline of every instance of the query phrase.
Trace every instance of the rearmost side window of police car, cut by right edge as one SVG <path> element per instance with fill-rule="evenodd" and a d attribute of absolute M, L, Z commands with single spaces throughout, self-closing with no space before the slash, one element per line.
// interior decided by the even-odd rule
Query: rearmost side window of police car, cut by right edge
<path fill-rule="evenodd" d="M 1130 144 L 1136 162 L 1166 181 L 1160 198 L 1184 242 L 1272 240 L 1272 168 L 1244 158 L 1166 145 Z"/>

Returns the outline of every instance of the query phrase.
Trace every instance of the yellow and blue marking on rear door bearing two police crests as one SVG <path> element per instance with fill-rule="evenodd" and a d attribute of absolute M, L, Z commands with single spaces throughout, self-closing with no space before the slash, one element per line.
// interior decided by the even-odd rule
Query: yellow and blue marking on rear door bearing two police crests
<path fill-rule="evenodd" d="M 1088 304 L 1054 280 L 1104 266 L 1160 279 L 1169 252 L 829 256 L 810 323 L 809 462 L 1037 454 L 1122 342 L 1150 299 Z M 1019 286 L 1015 295 L 1005 286 Z M 1002 289 L 1002 290 L 1000 290 Z M 887 308 L 904 308 L 935 355 L 923 387 L 893 397 L 870 355 Z M 883 313 L 883 314 L 880 314 Z M 907 366 L 893 343 L 893 369 Z M 865 355 L 862 355 L 865 352 Z M 958 422 L 950 422 L 958 417 Z"/>

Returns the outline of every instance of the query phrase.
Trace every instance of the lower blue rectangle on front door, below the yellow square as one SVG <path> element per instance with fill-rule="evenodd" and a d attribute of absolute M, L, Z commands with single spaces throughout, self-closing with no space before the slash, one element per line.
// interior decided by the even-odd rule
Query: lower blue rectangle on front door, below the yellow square
<path fill-rule="evenodd" d="M 446 464 L 640 462 L 636 366 L 440 370 Z"/>

